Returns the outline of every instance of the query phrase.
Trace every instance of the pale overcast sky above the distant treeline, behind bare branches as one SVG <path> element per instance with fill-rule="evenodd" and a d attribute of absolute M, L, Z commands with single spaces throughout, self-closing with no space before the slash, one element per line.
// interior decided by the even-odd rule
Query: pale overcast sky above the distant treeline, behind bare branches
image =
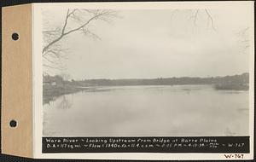
<path fill-rule="evenodd" d="M 74 79 L 207 77 L 249 71 L 249 54 L 236 35 L 250 24 L 245 10 L 118 10 L 112 23 L 94 21 L 101 40 L 73 32 L 61 42 Z M 44 29 L 63 26 L 67 9 L 44 9 Z M 51 71 L 59 74 L 60 71 Z"/>

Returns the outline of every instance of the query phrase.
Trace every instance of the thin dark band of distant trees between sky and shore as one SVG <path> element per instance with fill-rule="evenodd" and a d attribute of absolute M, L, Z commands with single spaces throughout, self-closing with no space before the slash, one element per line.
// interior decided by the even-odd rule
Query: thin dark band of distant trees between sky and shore
<path fill-rule="evenodd" d="M 46 79 L 48 78 L 48 79 Z M 225 77 L 181 77 L 181 78 L 131 78 L 131 79 L 84 79 L 84 80 L 63 80 L 60 76 L 44 76 L 44 81 L 66 83 L 79 87 L 87 86 L 125 86 L 125 85 L 183 85 L 183 84 L 215 84 L 221 89 L 222 85 L 248 85 L 249 73 Z"/>

